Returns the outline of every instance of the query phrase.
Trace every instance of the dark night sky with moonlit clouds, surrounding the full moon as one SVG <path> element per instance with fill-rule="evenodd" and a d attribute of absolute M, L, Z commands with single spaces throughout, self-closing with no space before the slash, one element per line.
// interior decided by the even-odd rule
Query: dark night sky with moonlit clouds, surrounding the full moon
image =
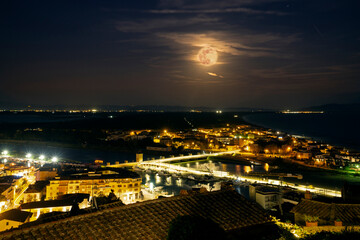
<path fill-rule="evenodd" d="M 3 0 L 0 103 L 360 102 L 357 2 Z"/>

